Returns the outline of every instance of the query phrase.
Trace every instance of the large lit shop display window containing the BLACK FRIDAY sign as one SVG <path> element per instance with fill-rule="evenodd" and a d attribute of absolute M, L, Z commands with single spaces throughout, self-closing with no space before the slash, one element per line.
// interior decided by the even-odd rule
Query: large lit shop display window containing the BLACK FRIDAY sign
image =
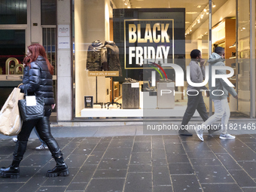
<path fill-rule="evenodd" d="M 215 28 L 233 22 L 226 2 L 212 7 Z M 190 51 L 200 50 L 207 60 L 215 46 L 209 46 L 208 2 L 73 0 L 73 6 L 75 117 L 182 117 Z M 233 33 L 236 39 L 236 28 Z M 209 111 L 209 98 L 204 100 Z"/>

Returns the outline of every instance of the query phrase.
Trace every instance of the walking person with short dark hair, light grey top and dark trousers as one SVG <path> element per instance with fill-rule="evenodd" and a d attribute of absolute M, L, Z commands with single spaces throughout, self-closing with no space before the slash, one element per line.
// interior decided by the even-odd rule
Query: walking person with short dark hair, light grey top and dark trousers
<path fill-rule="evenodd" d="M 191 61 L 190 66 L 190 80 L 194 83 L 202 83 L 205 75 L 204 63 L 205 60 L 202 59 L 202 54 L 200 50 L 192 50 L 190 52 Z M 200 65 L 198 64 L 200 62 Z M 207 90 L 204 87 L 192 87 L 187 86 L 187 109 L 184 113 L 181 128 L 178 130 L 180 136 L 193 136 L 192 133 L 187 131 L 187 123 L 193 117 L 195 111 L 197 110 L 202 119 L 205 121 L 208 119 L 208 114 L 206 111 L 206 105 L 203 101 L 202 92 L 200 90 Z M 206 92 L 209 94 L 209 92 Z M 209 95 L 207 95 L 209 96 Z M 209 130 L 210 133 L 211 130 Z"/>

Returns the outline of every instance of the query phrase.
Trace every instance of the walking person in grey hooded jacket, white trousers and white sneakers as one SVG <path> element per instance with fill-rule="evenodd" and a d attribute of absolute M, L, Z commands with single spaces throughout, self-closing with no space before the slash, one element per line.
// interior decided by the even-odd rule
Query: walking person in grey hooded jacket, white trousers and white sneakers
<path fill-rule="evenodd" d="M 224 64 L 225 51 L 223 47 L 216 47 L 215 53 L 209 58 L 209 80 L 212 79 L 212 66 L 225 66 Z M 226 75 L 226 69 L 217 69 L 216 75 Z M 197 136 L 203 141 L 203 130 L 208 128 L 210 124 L 221 119 L 221 135 L 220 139 L 235 139 L 235 136 L 231 136 L 227 133 L 227 123 L 230 118 L 230 107 L 227 102 L 228 93 L 237 99 L 237 93 L 230 87 L 222 78 L 215 79 L 215 87 L 212 86 L 212 82 L 209 81 L 210 98 L 215 106 L 215 114 L 209 117 L 202 125 L 196 127 Z M 212 92 L 214 91 L 214 92 Z M 214 93 L 214 94 L 212 94 Z"/>

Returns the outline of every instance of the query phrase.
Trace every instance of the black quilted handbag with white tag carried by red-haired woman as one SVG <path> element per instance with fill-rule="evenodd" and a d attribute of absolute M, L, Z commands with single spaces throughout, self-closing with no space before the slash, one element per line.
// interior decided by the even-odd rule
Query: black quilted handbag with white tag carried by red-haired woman
<path fill-rule="evenodd" d="M 25 99 L 18 102 L 22 120 L 35 120 L 44 117 L 44 97 L 28 96 L 26 86 L 24 87 L 24 97 Z"/>

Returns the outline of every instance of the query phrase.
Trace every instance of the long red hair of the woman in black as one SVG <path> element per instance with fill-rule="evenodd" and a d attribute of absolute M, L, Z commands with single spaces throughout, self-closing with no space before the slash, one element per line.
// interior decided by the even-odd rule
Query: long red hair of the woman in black
<path fill-rule="evenodd" d="M 46 52 L 44 50 L 44 47 L 41 46 L 41 44 L 31 44 L 31 45 L 29 45 L 28 49 L 29 49 L 29 52 L 31 53 L 31 55 L 26 56 L 23 59 L 23 63 L 25 63 L 26 66 L 29 66 L 29 68 L 30 68 L 30 63 L 31 62 L 35 61 L 38 58 L 39 55 L 43 56 L 44 59 L 46 60 L 47 67 L 49 69 L 50 74 L 53 75 L 53 66 L 50 65 L 50 62 L 47 59 L 47 55 L 46 55 Z"/>

